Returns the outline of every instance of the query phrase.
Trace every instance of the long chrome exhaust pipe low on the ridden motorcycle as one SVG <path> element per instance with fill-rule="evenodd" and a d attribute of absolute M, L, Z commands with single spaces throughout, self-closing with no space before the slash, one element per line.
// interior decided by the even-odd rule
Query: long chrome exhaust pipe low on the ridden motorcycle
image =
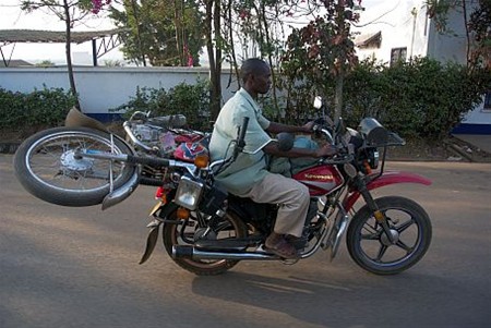
<path fill-rule="evenodd" d="M 173 245 L 172 258 L 192 258 L 192 259 L 279 259 L 274 254 L 263 252 L 246 251 L 202 251 L 190 245 Z"/>

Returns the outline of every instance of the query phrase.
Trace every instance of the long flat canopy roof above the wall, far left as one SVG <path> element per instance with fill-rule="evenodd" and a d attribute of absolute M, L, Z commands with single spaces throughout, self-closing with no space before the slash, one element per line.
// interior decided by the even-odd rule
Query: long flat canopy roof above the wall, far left
<path fill-rule="evenodd" d="M 121 29 L 106 29 L 94 32 L 72 32 L 72 42 L 83 44 L 93 39 L 117 35 Z M 0 29 L 0 42 L 64 42 L 64 31 L 37 29 Z"/>

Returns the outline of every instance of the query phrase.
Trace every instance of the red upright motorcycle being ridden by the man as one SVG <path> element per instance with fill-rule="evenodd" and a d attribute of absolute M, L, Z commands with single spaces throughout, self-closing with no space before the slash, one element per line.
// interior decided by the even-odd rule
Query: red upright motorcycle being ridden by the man
<path fill-rule="evenodd" d="M 196 165 L 194 172 L 173 177 L 176 187 L 159 191 L 160 201 L 152 211 L 154 220 L 141 263 L 154 250 L 159 227 L 167 253 L 179 266 L 196 275 L 221 274 L 246 259 L 289 264 L 297 260 L 282 259 L 263 247 L 274 226 L 276 204 L 237 197 L 214 183 L 217 170 L 244 151 L 247 122 L 235 142 L 231 158 L 209 166 Z M 393 275 L 418 263 L 431 242 L 428 214 L 411 199 L 400 196 L 374 199 L 370 193 L 395 183 L 431 184 L 414 173 L 384 171 L 386 148 L 403 145 L 404 141 L 370 118 L 361 121 L 358 131 L 345 129 L 335 137 L 326 127 L 316 130 L 325 142 L 338 148 L 338 154 L 297 168 L 292 174 L 309 186 L 311 194 L 302 238 L 295 241 L 300 259 L 321 248 L 328 250 L 333 259 L 346 232 L 351 258 L 368 271 Z M 280 134 L 277 143 L 288 149 L 294 139 Z M 356 209 L 360 196 L 364 205 Z"/>

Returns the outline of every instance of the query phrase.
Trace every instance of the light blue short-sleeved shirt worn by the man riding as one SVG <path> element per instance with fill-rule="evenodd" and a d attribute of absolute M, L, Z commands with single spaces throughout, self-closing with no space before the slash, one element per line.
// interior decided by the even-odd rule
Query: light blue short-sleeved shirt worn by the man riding
<path fill-rule="evenodd" d="M 270 121 L 263 117 L 261 108 L 251 95 L 241 88 L 225 104 L 218 114 L 209 141 L 212 160 L 229 158 L 233 154 L 233 145 L 230 145 L 230 141 L 237 139 L 237 132 L 242 125 L 244 117 L 249 118 L 244 138 L 246 151 L 255 151 L 271 141 L 265 132 L 270 126 Z M 263 150 L 259 150 L 254 155 L 240 153 L 236 161 L 215 175 L 215 179 L 228 192 L 242 196 L 266 174 L 265 154 Z"/>

